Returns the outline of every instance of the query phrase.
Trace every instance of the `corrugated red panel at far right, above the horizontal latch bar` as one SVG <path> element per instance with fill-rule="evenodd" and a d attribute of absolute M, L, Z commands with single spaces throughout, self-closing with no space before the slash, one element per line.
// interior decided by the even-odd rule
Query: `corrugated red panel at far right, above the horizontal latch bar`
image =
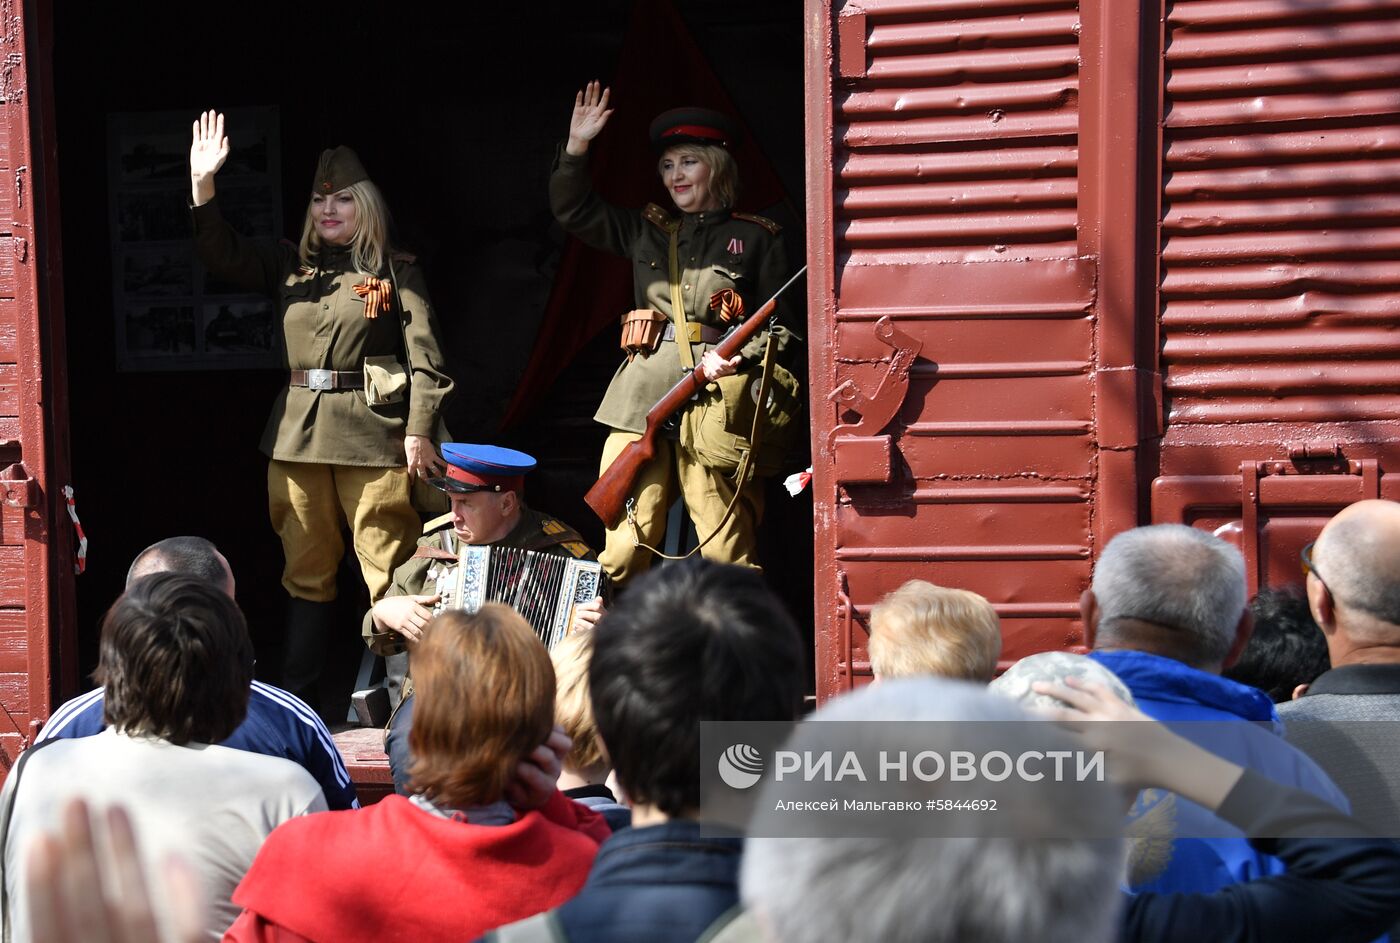
<path fill-rule="evenodd" d="M 1170 4 L 1163 474 L 1400 459 L 1397 43 L 1400 0 Z"/>

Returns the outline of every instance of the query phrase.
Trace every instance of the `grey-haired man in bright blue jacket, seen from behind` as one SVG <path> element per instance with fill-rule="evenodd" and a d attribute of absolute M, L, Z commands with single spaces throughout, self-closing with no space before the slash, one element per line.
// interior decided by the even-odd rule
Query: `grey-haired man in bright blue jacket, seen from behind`
<path fill-rule="evenodd" d="M 1091 658 L 1127 684 L 1137 707 L 1182 736 L 1275 782 L 1350 806 L 1316 763 L 1282 739 L 1273 701 L 1221 672 L 1249 642 L 1245 561 L 1219 537 L 1183 525 L 1120 533 L 1079 600 Z M 1245 723 L 1242 723 L 1242 721 Z M 1278 858 L 1197 803 L 1179 800 L 1175 841 L 1134 891 L 1208 893 L 1280 874 Z"/>

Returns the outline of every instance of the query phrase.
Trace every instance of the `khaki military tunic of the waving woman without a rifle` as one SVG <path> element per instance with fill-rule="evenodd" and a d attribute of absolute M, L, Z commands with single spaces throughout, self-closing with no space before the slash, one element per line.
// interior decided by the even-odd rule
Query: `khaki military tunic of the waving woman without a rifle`
<path fill-rule="evenodd" d="M 287 369 L 360 372 L 365 357 L 392 354 L 403 362 L 407 346 L 410 395 L 403 402 L 371 407 L 363 389 L 284 388 L 263 430 L 262 452 L 283 462 L 405 465 L 403 437 L 431 438 L 452 392 L 421 267 L 396 257 L 393 308 L 365 318 L 365 302 L 354 292 L 365 277 L 354 271 L 349 248 L 328 248 L 308 269 L 294 248 L 235 232 L 217 200 L 193 207 L 193 215 L 195 248 L 210 273 L 279 302 Z"/>

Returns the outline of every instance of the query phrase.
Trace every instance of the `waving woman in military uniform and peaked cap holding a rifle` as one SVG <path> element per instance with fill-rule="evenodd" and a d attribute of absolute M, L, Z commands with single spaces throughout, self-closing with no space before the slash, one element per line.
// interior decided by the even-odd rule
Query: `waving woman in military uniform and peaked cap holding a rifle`
<path fill-rule="evenodd" d="M 640 438 L 647 410 L 685 371 L 699 367 L 708 381 L 739 374 L 757 382 L 769 337 L 780 354 L 792 340 L 785 327 L 770 322 L 773 326 L 732 360 L 714 351 L 727 327 L 777 291 L 787 269 L 777 224 L 732 208 L 738 192 L 738 168 L 729 154 L 734 122 L 703 108 L 659 115 L 651 123 L 651 143 L 676 211 L 654 203 L 640 211 L 624 210 L 594 192 L 588 172 L 589 141 L 612 115 L 608 99 L 608 90 L 598 83 L 575 95 L 568 141 L 549 182 L 550 206 L 564 229 L 633 262 L 636 309 L 623 316 L 627 360 L 594 416 L 610 430 L 602 469 Z M 735 389 L 750 393 L 743 383 Z M 699 427 L 687 421 L 696 418 L 693 413 L 682 417 L 676 438 L 658 439 L 657 458 L 633 485 L 630 519 L 624 516 L 608 530 L 598 558 L 617 585 L 651 565 L 651 551 L 640 544 L 655 547 L 665 536 L 666 509 L 678 487 L 701 553 L 720 562 L 757 567 L 755 530 L 763 513 L 763 485 L 736 483 L 729 460 L 735 449 L 742 452 L 748 445 L 749 427 L 722 432 L 734 448 L 727 449 L 728 456 L 717 455 L 697 448 L 692 431 Z M 760 458 L 760 474 L 774 470 Z"/>

